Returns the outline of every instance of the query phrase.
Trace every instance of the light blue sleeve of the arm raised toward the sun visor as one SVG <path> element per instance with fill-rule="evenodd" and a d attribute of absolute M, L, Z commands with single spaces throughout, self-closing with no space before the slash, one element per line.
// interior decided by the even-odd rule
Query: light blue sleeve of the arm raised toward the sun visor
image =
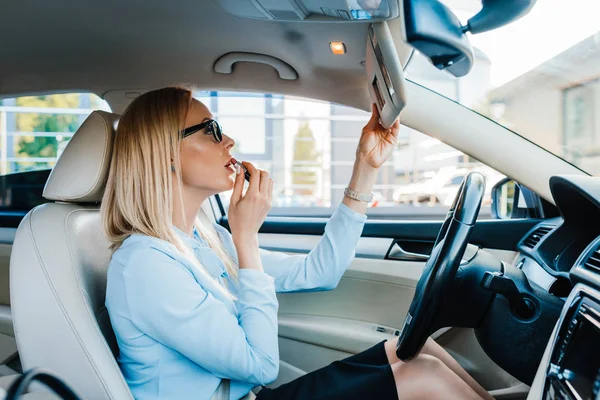
<path fill-rule="evenodd" d="M 367 216 L 340 203 L 319 243 L 308 254 L 290 255 L 261 249 L 263 268 L 275 280 L 277 292 L 334 289 L 354 258 Z M 235 258 L 229 232 L 217 225 L 225 247 Z"/>

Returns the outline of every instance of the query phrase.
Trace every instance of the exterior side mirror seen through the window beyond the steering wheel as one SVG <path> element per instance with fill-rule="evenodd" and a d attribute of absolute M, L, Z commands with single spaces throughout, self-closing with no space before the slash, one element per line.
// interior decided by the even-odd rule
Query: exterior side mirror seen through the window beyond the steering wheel
<path fill-rule="evenodd" d="M 544 210 L 537 194 L 510 178 L 504 178 L 492 188 L 492 217 L 543 218 Z"/>

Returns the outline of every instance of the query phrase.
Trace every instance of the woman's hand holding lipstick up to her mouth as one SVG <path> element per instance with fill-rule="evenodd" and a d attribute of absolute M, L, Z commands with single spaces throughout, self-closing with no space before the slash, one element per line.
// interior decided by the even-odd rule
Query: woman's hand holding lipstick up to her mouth
<path fill-rule="evenodd" d="M 229 227 L 238 252 L 240 268 L 262 270 L 258 253 L 258 229 L 271 209 L 273 180 L 267 171 L 260 171 L 246 161 L 242 164 L 250 173 L 250 184 L 243 194 L 244 172 L 238 168 L 227 212 Z"/>

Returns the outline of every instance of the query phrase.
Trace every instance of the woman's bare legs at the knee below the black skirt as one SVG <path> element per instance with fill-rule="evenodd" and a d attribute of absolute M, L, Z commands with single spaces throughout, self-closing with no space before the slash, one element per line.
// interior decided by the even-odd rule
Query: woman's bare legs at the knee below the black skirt
<path fill-rule="evenodd" d="M 410 362 L 391 365 L 398 400 L 481 400 L 469 385 L 439 358 L 419 354 Z"/>

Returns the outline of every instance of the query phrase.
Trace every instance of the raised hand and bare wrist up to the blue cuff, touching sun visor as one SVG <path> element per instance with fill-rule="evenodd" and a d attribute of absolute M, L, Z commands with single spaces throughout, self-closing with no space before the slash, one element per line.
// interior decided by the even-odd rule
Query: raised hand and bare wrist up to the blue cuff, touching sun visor
<path fill-rule="evenodd" d="M 379 123 L 379 111 L 375 104 L 371 105 L 371 119 L 362 130 L 358 147 L 356 149 L 356 161 L 352 170 L 352 178 L 348 188 L 360 192 L 371 193 L 373 184 L 377 179 L 379 167 L 388 159 L 398 142 L 398 131 L 400 122 L 385 129 Z M 344 197 L 344 204 L 354 211 L 364 214 L 367 211 L 367 203 Z"/>

